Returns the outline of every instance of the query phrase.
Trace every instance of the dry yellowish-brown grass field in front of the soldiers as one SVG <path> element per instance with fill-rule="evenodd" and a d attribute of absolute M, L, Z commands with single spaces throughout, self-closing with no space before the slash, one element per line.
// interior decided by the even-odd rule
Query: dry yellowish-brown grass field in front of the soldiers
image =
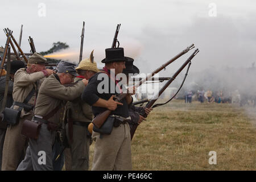
<path fill-rule="evenodd" d="M 133 170 L 256 170 L 256 109 L 183 102 L 156 107 L 138 127 Z M 94 142 L 90 168 L 93 150 Z M 208 162 L 210 151 L 216 165 Z"/>

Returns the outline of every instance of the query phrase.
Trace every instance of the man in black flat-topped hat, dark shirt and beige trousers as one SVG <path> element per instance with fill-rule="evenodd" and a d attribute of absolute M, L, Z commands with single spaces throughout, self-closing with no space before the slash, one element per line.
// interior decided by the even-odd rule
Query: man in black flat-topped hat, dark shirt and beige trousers
<path fill-rule="evenodd" d="M 106 58 L 102 60 L 105 67 L 89 79 L 82 93 L 82 100 L 92 105 L 94 117 L 105 110 L 112 110 L 110 115 L 115 117 L 110 134 L 98 133 L 93 129 L 92 138 L 96 143 L 92 170 L 131 170 L 131 137 L 127 121 L 130 119 L 128 108 L 133 99 L 131 94 L 127 94 L 119 102 L 113 100 L 115 94 L 122 92 L 115 76 L 125 69 L 127 58 L 123 48 L 108 48 L 105 53 Z"/>

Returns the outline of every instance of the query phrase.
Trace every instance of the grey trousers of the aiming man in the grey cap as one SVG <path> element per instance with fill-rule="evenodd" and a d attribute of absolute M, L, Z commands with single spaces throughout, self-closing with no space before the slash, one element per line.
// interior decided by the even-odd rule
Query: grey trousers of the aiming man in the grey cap
<path fill-rule="evenodd" d="M 52 146 L 55 131 L 49 131 L 42 124 L 38 139 L 29 139 L 26 156 L 19 164 L 17 171 L 52 171 Z"/>

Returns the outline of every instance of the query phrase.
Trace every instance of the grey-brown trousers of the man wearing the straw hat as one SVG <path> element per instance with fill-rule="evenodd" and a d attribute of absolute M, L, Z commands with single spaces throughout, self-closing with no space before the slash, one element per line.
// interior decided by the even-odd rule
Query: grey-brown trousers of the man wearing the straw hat
<path fill-rule="evenodd" d="M 69 155 L 65 152 L 65 161 L 71 158 L 71 163 L 65 163 L 65 168 L 72 171 L 87 171 L 89 168 L 90 138 L 87 136 L 87 127 L 73 125 L 73 143 L 70 145 Z M 66 125 L 68 142 L 68 125 Z"/>

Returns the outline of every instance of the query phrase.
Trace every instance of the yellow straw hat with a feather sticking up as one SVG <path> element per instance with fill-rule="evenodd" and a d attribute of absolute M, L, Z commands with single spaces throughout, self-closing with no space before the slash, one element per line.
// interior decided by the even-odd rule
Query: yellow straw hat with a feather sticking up
<path fill-rule="evenodd" d="M 90 53 L 89 58 L 81 60 L 76 69 L 93 71 L 96 73 L 100 71 L 100 69 L 97 68 L 97 63 L 94 61 L 93 51 Z"/>

